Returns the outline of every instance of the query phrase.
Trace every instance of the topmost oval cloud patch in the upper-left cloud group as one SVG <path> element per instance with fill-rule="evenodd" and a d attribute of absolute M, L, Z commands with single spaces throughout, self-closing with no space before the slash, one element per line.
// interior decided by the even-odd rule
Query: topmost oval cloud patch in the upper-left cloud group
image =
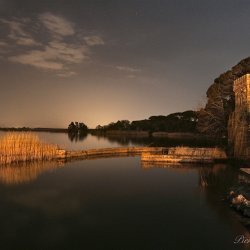
<path fill-rule="evenodd" d="M 70 36 L 75 34 L 73 24 L 62 17 L 47 12 L 41 14 L 39 20 L 52 34 L 60 36 Z"/>

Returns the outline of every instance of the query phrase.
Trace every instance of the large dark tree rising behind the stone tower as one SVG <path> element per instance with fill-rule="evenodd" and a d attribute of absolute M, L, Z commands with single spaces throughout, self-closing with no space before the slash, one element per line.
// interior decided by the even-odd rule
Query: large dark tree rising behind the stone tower
<path fill-rule="evenodd" d="M 216 137 L 227 136 L 229 115 L 234 111 L 233 82 L 250 73 L 250 57 L 221 74 L 207 90 L 207 103 L 198 112 L 199 132 Z"/>

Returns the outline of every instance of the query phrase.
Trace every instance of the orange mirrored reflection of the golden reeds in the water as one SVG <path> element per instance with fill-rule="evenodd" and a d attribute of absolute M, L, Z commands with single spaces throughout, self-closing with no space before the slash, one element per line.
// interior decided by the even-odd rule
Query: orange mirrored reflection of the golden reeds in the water
<path fill-rule="evenodd" d="M 42 173 L 62 167 L 61 162 L 28 162 L 0 167 L 0 183 L 5 185 L 17 185 L 29 183 Z"/>

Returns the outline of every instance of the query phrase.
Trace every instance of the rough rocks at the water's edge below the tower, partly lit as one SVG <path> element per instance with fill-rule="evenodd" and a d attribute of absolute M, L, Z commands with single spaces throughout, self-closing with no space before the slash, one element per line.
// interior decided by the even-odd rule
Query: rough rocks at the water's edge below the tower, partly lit
<path fill-rule="evenodd" d="M 244 224 L 250 226 L 250 186 L 242 183 L 232 187 L 228 199 L 231 206 L 245 217 Z"/>

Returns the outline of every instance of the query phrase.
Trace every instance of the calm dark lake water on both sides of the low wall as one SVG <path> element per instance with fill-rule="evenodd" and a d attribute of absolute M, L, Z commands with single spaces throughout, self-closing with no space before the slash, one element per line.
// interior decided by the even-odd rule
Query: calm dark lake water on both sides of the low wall
<path fill-rule="evenodd" d="M 37 134 L 74 150 L 152 144 Z M 0 167 L 1 249 L 249 249 L 234 244 L 250 232 L 224 200 L 241 175 L 226 164 L 152 165 L 139 157 Z"/>

